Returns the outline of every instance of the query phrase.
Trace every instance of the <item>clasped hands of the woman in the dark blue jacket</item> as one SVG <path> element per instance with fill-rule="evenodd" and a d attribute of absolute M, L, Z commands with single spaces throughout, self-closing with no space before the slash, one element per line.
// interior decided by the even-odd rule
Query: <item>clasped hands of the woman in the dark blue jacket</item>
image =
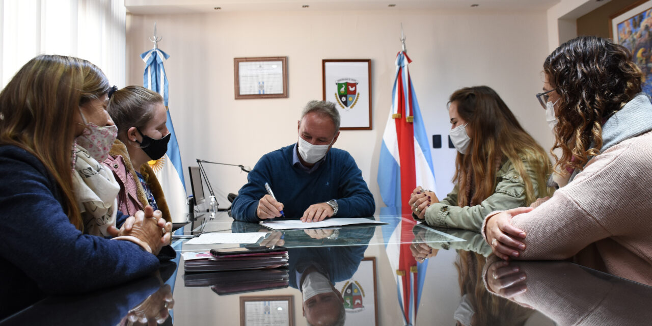
<path fill-rule="evenodd" d="M 143 211 L 138 211 L 134 216 L 129 216 L 118 230 L 110 226 L 107 232 L 111 237 L 123 237 L 117 240 L 132 241 L 143 249 L 148 246 L 152 254 L 158 255 L 161 248 L 170 244 L 172 222 L 166 222 L 162 213 L 147 205 Z"/>

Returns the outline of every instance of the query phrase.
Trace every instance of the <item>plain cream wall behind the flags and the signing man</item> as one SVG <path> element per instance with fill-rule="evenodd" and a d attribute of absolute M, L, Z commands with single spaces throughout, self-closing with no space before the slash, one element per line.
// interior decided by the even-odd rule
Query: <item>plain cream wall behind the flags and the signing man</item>
<path fill-rule="evenodd" d="M 447 147 L 447 97 L 460 87 L 489 85 L 544 148 L 552 135 L 535 99 L 548 55 L 546 12 L 338 11 L 232 12 L 127 19 L 127 83 L 142 84 L 140 53 L 157 22 L 159 48 L 170 54 L 170 110 L 184 166 L 196 158 L 253 167 L 258 158 L 297 139 L 302 106 L 321 99 L 321 59 L 372 59 L 373 130 L 343 130 L 336 147 L 353 155 L 381 203 L 376 174 L 391 105 L 400 23 L 411 77 L 432 151 L 440 196 L 451 190 L 454 149 Z M 341 35 L 346 35 L 342 37 Z M 234 100 L 233 58 L 288 56 L 289 97 Z M 432 143 L 431 143 L 432 145 Z M 185 170 L 187 168 L 184 168 Z M 207 166 L 222 207 L 246 183 L 238 168 Z M 187 173 L 186 173 L 186 180 Z M 187 183 L 186 187 L 190 187 Z M 221 196 L 221 198 L 220 198 Z"/>

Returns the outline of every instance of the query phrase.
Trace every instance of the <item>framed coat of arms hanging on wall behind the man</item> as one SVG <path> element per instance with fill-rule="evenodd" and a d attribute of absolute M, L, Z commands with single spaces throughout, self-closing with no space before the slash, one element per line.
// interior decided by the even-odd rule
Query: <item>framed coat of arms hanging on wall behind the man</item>
<path fill-rule="evenodd" d="M 340 129 L 371 130 L 371 59 L 321 61 L 323 99 L 335 102 Z"/>

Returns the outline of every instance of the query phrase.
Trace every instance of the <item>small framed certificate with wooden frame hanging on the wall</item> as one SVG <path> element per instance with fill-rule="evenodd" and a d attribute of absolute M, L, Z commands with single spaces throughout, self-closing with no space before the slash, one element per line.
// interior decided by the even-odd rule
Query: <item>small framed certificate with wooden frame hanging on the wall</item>
<path fill-rule="evenodd" d="M 235 99 L 288 97 L 288 57 L 233 58 Z"/>

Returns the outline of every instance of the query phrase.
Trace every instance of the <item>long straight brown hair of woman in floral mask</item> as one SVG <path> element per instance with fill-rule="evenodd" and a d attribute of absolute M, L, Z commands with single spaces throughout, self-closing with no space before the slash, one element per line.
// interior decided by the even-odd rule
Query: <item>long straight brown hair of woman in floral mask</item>
<path fill-rule="evenodd" d="M 0 92 L 0 144 L 16 145 L 36 156 L 52 173 L 70 223 L 83 229 L 72 190 L 72 143 L 80 105 L 106 93 L 100 68 L 83 59 L 38 55 Z"/>

